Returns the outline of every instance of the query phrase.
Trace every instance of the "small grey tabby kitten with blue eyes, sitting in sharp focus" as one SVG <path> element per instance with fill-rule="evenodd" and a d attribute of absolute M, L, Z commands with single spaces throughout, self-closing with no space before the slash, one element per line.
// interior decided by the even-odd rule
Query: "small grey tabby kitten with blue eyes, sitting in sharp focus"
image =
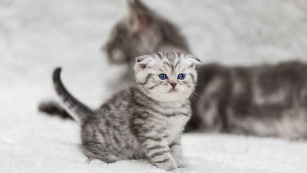
<path fill-rule="evenodd" d="M 83 152 L 103 162 L 148 159 L 165 170 L 181 165 L 180 134 L 191 116 L 197 57 L 158 52 L 137 57 L 136 84 L 91 110 L 71 96 L 53 73 L 54 88 L 81 125 Z"/>

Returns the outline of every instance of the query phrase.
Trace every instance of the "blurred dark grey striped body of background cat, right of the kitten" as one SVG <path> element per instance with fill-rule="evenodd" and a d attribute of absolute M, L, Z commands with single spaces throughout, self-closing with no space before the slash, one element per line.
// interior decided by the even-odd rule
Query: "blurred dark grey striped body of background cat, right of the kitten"
<path fill-rule="evenodd" d="M 307 138 L 307 64 L 202 65 L 190 130 Z"/>

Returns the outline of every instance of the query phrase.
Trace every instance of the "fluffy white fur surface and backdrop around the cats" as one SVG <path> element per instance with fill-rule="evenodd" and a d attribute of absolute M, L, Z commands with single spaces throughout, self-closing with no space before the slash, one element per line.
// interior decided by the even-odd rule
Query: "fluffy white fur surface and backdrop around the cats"
<path fill-rule="evenodd" d="M 149 4 L 151 3 L 151 4 Z M 182 28 L 203 62 L 254 65 L 307 60 L 304 0 L 146 0 Z M 44 116 L 55 98 L 51 72 L 89 106 L 110 96 L 115 78 L 100 47 L 124 1 L 0 0 L 0 172 L 164 172 L 145 161 L 88 163 L 72 121 Z M 306 172 L 307 143 L 236 135 L 186 134 L 178 172 Z"/>

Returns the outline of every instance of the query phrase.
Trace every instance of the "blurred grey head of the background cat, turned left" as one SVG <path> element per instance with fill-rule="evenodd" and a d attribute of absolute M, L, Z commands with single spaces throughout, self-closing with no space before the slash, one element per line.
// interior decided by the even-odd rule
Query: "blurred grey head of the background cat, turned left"
<path fill-rule="evenodd" d="M 103 47 L 109 62 L 133 63 L 134 57 L 167 48 L 190 52 L 187 41 L 173 23 L 139 0 L 127 2 L 129 15 L 112 28 L 110 38 Z"/>

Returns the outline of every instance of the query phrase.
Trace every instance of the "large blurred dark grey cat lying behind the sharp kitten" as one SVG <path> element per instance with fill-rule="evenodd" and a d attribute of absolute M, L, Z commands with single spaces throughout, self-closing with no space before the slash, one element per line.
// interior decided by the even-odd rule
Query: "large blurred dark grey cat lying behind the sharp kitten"
<path fill-rule="evenodd" d="M 119 85 L 134 82 L 131 73 L 134 57 L 167 48 L 190 52 L 176 27 L 141 1 L 129 1 L 129 9 L 129 17 L 117 23 L 104 47 L 111 63 L 129 67 Z M 305 63 L 257 67 L 202 65 L 197 72 L 198 84 L 191 96 L 193 114 L 187 131 L 307 137 Z M 57 104 L 40 106 L 45 112 L 69 115 Z"/>

